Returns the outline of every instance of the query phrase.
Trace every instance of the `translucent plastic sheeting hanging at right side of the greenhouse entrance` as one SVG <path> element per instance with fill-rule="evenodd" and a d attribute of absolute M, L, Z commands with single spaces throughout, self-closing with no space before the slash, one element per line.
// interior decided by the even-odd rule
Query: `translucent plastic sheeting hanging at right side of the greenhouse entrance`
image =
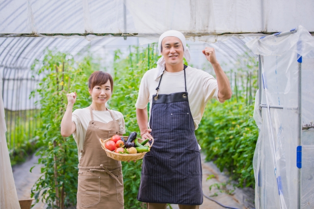
<path fill-rule="evenodd" d="M 296 209 L 298 188 L 300 208 L 314 208 L 314 38 L 302 26 L 295 31 L 247 43 L 261 55 L 261 103 L 266 107 L 261 116 L 258 92 L 254 118 L 260 134 L 253 159 L 256 209 Z M 299 68 L 302 122 L 298 120 Z M 298 145 L 302 145 L 302 168 L 297 167 Z"/>

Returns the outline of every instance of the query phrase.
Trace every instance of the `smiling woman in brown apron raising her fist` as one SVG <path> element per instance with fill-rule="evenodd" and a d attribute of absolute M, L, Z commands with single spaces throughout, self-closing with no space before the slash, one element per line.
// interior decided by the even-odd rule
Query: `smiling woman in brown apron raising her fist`
<path fill-rule="evenodd" d="M 77 93 L 68 93 L 68 106 L 61 121 L 61 135 L 73 134 L 78 145 L 77 209 L 123 209 L 123 176 L 120 161 L 107 157 L 99 139 L 126 133 L 123 115 L 109 110 L 113 80 L 109 73 L 93 72 L 88 79 L 92 104 L 72 113 Z"/>

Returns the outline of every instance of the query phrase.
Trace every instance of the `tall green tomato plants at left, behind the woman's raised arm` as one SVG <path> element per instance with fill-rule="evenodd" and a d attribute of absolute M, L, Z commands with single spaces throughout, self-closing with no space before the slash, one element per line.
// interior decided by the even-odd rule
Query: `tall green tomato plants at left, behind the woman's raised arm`
<path fill-rule="evenodd" d="M 86 56 L 75 62 L 70 54 L 48 50 L 43 61 L 36 61 L 33 73 L 42 77 L 32 96 L 38 94 L 41 129 L 38 130 L 42 176 L 32 188 L 31 197 L 45 201 L 48 208 L 76 205 L 78 186 L 78 149 L 73 137 L 60 134 L 61 119 L 66 109 L 66 93 L 76 91 L 79 97 L 74 109 L 90 104 L 87 88 L 88 75 L 97 69 L 93 59 Z"/>

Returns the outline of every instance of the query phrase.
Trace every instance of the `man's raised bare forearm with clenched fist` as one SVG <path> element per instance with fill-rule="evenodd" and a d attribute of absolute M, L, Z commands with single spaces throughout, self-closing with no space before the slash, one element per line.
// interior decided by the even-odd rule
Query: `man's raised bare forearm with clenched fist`
<path fill-rule="evenodd" d="M 232 96 L 232 91 L 229 83 L 229 79 L 226 73 L 222 70 L 221 66 L 216 59 L 215 49 L 211 47 L 206 47 L 203 51 L 206 59 L 211 63 L 213 69 L 215 70 L 217 84 L 218 84 L 218 98 L 227 100 Z"/>

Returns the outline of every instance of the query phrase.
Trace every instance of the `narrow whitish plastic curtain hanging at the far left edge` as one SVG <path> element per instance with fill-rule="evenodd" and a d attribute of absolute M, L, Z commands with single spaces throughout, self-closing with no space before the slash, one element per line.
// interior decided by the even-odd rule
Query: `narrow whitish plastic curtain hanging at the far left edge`
<path fill-rule="evenodd" d="M 8 146 L 5 139 L 4 106 L 0 75 L 0 209 L 21 209 L 16 192 Z"/>

